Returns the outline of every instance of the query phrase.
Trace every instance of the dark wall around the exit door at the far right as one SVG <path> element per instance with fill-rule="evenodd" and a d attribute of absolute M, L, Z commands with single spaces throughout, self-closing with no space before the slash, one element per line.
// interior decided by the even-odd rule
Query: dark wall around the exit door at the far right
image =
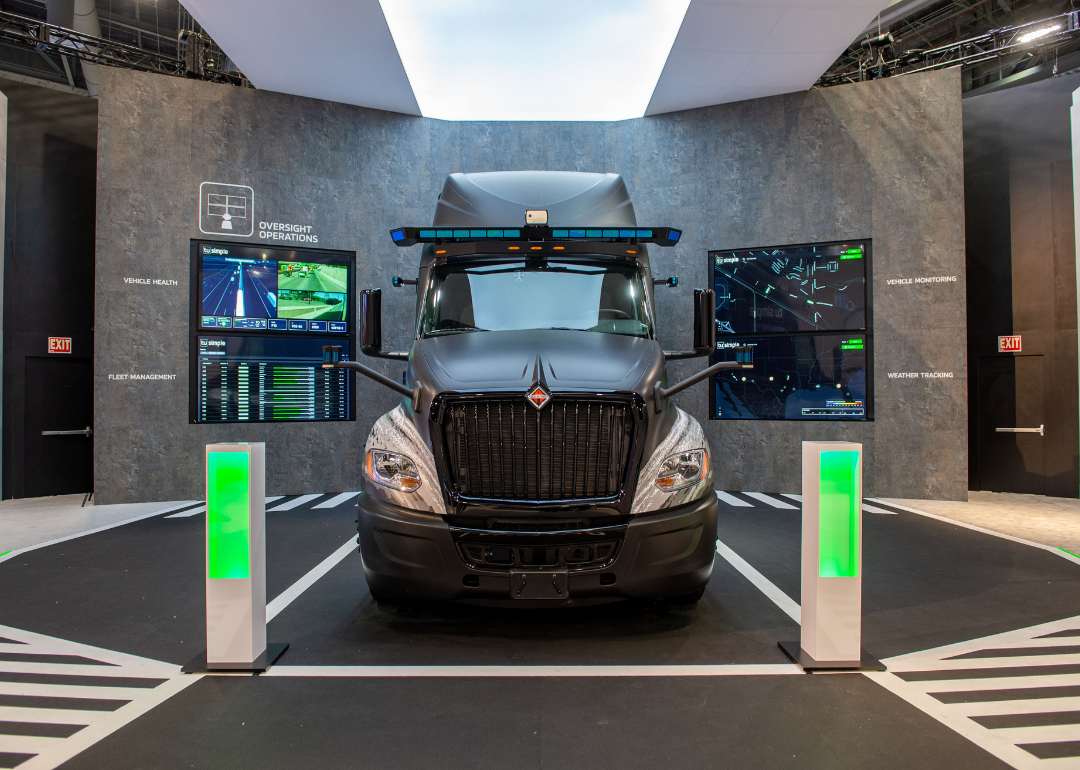
<path fill-rule="evenodd" d="M 1012 334 L 1021 335 L 1025 355 L 1043 356 L 1041 472 L 1045 494 L 1054 497 L 1080 494 L 1069 120 L 1078 87 L 1080 76 L 1072 75 L 963 102 L 969 360 L 973 367 L 994 365 L 998 336 Z M 974 373 L 972 379 L 977 379 Z M 980 488 L 981 475 L 980 408 L 973 392 L 973 489 Z"/>

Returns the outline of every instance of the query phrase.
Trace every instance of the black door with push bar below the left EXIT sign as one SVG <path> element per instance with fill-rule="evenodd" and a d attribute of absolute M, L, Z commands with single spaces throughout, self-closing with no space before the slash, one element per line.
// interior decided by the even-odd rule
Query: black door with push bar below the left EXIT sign
<path fill-rule="evenodd" d="M 93 490 L 93 364 L 26 357 L 25 497 Z"/>

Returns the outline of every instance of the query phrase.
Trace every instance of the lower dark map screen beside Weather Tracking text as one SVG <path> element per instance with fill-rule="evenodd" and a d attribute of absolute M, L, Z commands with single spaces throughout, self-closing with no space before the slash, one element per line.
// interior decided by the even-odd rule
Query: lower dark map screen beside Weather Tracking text
<path fill-rule="evenodd" d="M 865 334 L 751 337 L 721 340 L 717 348 L 737 345 L 752 349 L 754 368 L 714 375 L 714 419 L 868 418 Z"/>

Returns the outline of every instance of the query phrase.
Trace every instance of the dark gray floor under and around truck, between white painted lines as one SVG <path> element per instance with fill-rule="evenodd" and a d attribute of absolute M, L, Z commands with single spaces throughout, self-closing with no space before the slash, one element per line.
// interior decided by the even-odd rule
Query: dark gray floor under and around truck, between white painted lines
<path fill-rule="evenodd" d="M 267 516 L 268 596 L 354 537 L 354 509 Z M 876 657 L 1080 614 L 1080 568 L 908 513 L 865 515 Z M 799 512 L 720 503 L 719 537 L 799 598 Z M 202 516 L 0 564 L 0 623 L 185 663 L 203 648 Z M 784 663 L 798 626 L 717 559 L 693 608 L 384 608 L 350 555 L 269 625 L 282 665 Z M 858 675 L 206 678 L 65 768 L 994 768 Z"/>

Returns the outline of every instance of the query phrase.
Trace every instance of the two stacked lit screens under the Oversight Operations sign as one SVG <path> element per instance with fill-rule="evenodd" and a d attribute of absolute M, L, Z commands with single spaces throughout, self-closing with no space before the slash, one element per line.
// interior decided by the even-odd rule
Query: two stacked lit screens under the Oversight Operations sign
<path fill-rule="evenodd" d="M 355 348 L 356 255 L 191 243 L 190 420 L 355 419 L 354 378 L 323 346 Z"/>

